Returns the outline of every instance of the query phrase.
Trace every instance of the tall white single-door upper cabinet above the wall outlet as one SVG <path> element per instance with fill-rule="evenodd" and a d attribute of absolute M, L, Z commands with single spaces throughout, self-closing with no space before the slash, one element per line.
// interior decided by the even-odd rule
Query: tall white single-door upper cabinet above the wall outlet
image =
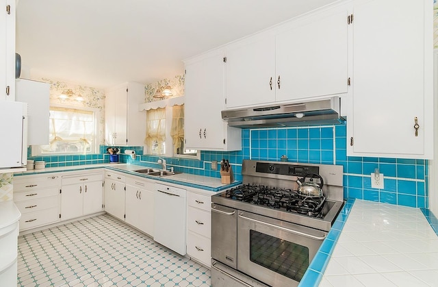
<path fill-rule="evenodd" d="M 355 4 L 348 155 L 433 158 L 432 2 Z"/>

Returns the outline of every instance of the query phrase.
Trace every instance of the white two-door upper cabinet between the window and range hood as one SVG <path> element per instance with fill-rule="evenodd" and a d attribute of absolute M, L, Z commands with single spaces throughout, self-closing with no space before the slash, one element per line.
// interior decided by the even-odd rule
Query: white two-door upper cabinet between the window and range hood
<path fill-rule="evenodd" d="M 242 149 L 242 132 L 228 127 L 224 109 L 224 54 L 214 51 L 185 63 L 185 147 L 203 151 Z"/>

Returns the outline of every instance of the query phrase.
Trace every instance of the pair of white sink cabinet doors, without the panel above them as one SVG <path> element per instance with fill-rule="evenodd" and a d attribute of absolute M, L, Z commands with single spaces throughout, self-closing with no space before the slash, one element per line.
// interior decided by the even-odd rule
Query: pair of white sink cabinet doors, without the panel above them
<path fill-rule="evenodd" d="M 126 186 L 125 221 L 150 236 L 153 236 L 153 202 L 153 191 Z"/>

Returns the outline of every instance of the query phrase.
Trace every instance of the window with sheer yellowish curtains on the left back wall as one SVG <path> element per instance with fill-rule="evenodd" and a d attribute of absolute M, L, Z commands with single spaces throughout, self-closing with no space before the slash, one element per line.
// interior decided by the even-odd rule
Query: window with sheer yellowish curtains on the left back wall
<path fill-rule="evenodd" d="M 50 108 L 49 145 L 32 149 L 32 155 L 94 153 L 96 112 L 76 108 Z"/>

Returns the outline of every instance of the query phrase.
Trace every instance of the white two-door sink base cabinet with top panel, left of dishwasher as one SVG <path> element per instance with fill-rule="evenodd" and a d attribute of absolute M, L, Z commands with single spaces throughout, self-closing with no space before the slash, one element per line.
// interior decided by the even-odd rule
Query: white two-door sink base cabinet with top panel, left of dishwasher
<path fill-rule="evenodd" d="M 140 177 L 127 177 L 125 222 L 153 237 L 155 183 Z"/>

